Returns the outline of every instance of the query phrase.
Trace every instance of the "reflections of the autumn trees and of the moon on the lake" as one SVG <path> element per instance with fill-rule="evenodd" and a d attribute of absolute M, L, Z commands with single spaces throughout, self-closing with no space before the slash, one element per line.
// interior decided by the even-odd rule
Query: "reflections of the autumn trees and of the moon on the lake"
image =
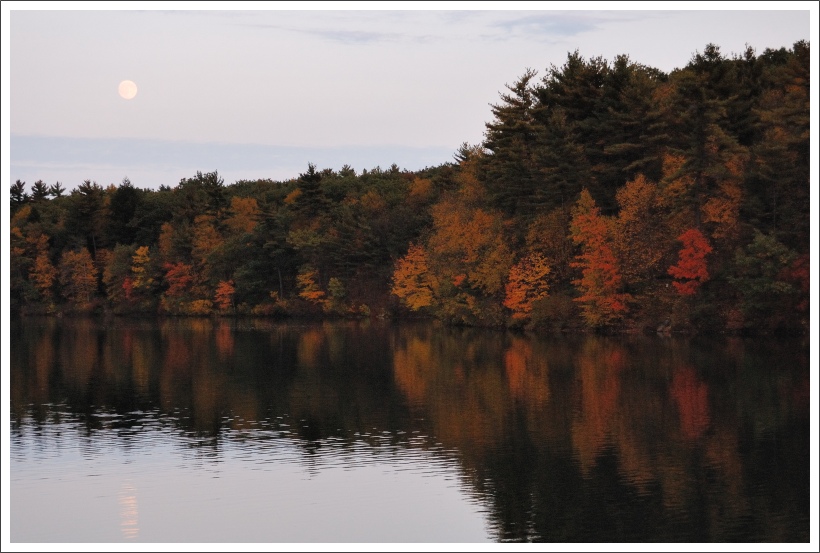
<path fill-rule="evenodd" d="M 805 342 L 211 319 L 12 334 L 13 433 L 67 410 L 90 439 L 138 441 L 147 418 L 206 457 L 228 438 L 296 439 L 314 471 L 328 450 L 447 452 L 498 540 L 809 538 Z"/>

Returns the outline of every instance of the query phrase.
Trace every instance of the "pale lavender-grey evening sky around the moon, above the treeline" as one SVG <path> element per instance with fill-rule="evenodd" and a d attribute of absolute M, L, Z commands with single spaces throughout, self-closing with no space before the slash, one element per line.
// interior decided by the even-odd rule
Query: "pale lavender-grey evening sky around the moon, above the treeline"
<path fill-rule="evenodd" d="M 578 50 L 670 72 L 708 43 L 790 48 L 817 19 L 815 2 L 2 6 L 7 182 L 68 190 L 437 166 L 483 140 L 490 105 L 527 68 L 543 76 Z"/>

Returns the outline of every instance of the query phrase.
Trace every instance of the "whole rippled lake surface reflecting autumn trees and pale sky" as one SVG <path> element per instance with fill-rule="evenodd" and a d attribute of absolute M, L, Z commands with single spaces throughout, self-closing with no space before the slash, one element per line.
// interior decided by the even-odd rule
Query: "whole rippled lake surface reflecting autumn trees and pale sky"
<path fill-rule="evenodd" d="M 807 542 L 808 342 L 27 318 L 12 542 Z"/>

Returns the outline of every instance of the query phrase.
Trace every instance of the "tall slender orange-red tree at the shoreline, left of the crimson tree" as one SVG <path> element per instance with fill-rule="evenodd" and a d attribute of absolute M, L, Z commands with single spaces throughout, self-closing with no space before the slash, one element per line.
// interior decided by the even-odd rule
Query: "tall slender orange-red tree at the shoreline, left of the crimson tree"
<path fill-rule="evenodd" d="M 609 221 L 589 191 L 584 189 L 572 211 L 570 232 L 575 244 L 581 246 L 573 267 L 582 271 L 573 284 L 581 295 L 575 301 L 589 326 L 600 327 L 615 323 L 627 310 L 629 295 L 621 292 L 621 273 L 612 250 Z"/>

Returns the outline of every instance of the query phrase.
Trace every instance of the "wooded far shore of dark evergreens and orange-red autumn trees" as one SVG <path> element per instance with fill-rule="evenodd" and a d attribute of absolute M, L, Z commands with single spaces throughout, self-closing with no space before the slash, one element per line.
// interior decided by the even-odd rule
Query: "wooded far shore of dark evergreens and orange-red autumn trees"
<path fill-rule="evenodd" d="M 14 311 L 804 332 L 809 44 L 526 70 L 422 171 L 11 185 Z"/>

